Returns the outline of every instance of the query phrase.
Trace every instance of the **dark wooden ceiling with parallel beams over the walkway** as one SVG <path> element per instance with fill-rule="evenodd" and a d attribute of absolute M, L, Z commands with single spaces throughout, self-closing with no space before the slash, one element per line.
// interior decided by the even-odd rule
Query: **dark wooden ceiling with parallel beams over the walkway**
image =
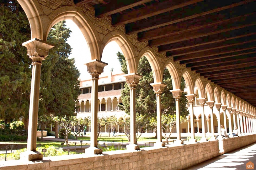
<path fill-rule="evenodd" d="M 256 107 L 255 0 L 74 0 L 91 3 L 187 68 Z"/>

